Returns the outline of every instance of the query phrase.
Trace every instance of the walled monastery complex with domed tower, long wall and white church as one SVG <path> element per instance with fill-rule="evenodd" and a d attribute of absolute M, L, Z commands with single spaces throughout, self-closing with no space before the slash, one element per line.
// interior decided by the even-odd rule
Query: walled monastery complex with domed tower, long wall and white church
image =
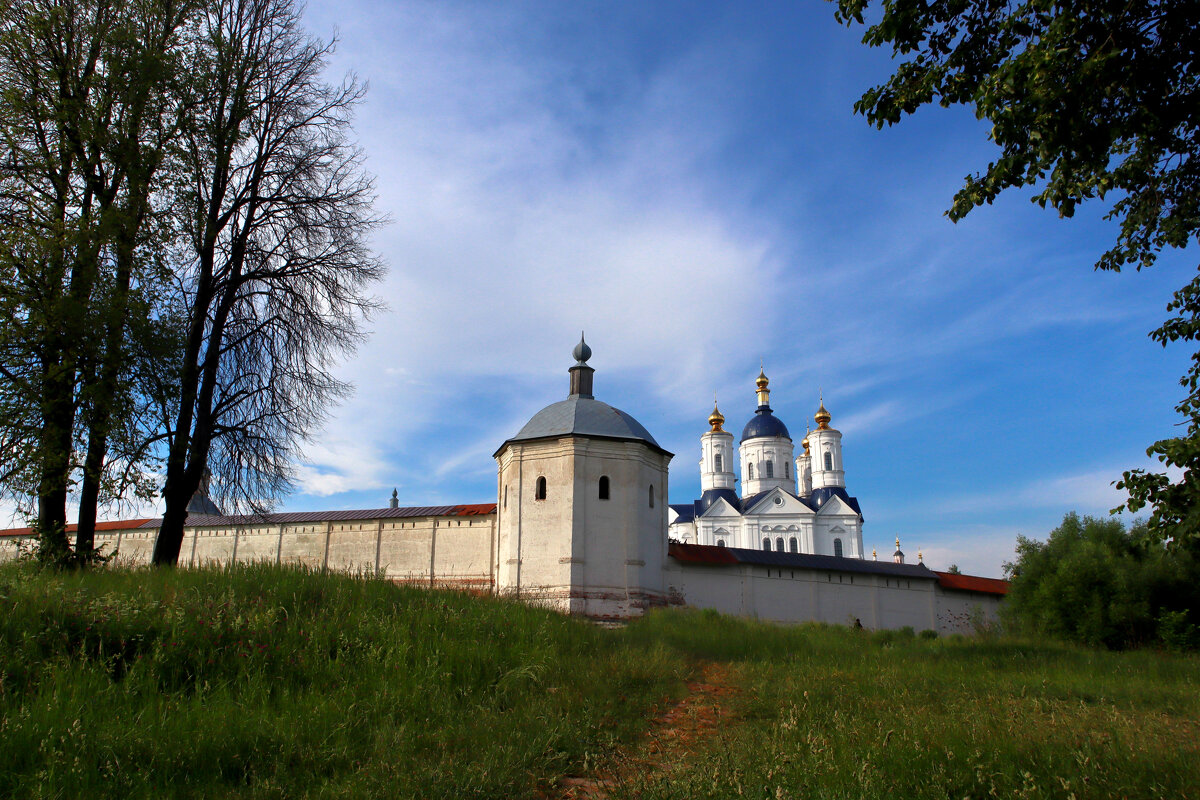
<path fill-rule="evenodd" d="M 228 516 L 188 506 L 181 566 L 245 561 L 371 573 L 494 594 L 596 620 L 685 606 L 775 622 L 971 632 L 995 618 L 1007 583 L 863 553 L 863 515 L 846 492 L 841 433 L 823 402 L 796 456 L 767 377 L 738 443 L 714 408 L 701 435 L 702 494 L 668 506 L 664 450 L 636 419 L 593 395 L 581 339 L 565 399 L 494 452 L 494 503 Z M 149 563 L 160 519 L 97 525 L 119 561 Z M 28 547 L 0 531 L 0 560 Z"/>

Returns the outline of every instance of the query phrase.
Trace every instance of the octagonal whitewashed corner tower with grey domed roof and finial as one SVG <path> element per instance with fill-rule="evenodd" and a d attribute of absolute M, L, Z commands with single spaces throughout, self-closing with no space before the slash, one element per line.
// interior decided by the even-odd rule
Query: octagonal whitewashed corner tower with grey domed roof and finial
<path fill-rule="evenodd" d="M 666 602 L 671 453 L 632 416 L 595 399 L 580 339 L 566 399 L 496 451 L 497 591 L 596 619 Z"/>

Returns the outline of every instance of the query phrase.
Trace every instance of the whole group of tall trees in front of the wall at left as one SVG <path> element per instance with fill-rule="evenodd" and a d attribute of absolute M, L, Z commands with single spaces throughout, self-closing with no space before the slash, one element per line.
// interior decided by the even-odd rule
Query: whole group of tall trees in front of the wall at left
<path fill-rule="evenodd" d="M 323 79 L 300 17 L 0 0 L 0 497 L 36 504 L 49 560 L 90 558 L 97 505 L 150 489 L 173 564 L 209 471 L 269 506 L 348 391 L 332 367 L 383 269 L 362 88 Z"/>

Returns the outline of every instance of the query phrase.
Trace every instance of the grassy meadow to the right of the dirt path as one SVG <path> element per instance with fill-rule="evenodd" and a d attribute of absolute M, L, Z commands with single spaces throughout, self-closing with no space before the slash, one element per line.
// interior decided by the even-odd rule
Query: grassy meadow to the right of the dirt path
<path fill-rule="evenodd" d="M 629 796 L 1200 796 L 1195 656 L 706 613 L 637 636 L 686 648 L 701 630 L 743 686 L 734 721 Z"/>

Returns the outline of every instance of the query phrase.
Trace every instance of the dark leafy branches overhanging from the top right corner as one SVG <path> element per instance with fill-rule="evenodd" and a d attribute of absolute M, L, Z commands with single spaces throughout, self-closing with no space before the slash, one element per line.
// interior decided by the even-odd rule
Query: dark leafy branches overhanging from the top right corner
<path fill-rule="evenodd" d="M 871 0 L 838 0 L 865 24 Z M 1036 186 L 1033 201 L 1063 217 L 1115 198 L 1116 242 L 1098 269 L 1152 265 L 1166 247 L 1200 241 L 1200 4 L 1186 0 L 884 0 L 863 36 L 900 61 L 854 108 L 882 127 L 925 104 L 972 106 L 1000 154 L 970 175 L 948 211 L 958 221 L 1004 190 Z M 1200 277 L 1168 306 L 1151 336 L 1200 341 Z M 1129 470 L 1129 511 L 1148 507 L 1146 535 L 1200 551 L 1200 351 L 1181 379 L 1184 435 L 1146 452 L 1169 474 Z"/>

